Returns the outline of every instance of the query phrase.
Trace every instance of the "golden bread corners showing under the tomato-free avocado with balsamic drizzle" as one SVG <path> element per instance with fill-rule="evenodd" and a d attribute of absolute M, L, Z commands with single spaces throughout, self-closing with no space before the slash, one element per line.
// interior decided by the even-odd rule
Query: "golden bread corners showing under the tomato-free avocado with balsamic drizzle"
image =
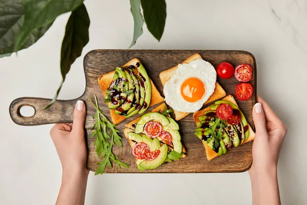
<path fill-rule="evenodd" d="M 130 66 L 130 65 L 135 66 L 137 63 L 141 64 L 141 60 L 138 59 L 138 58 L 133 58 L 128 63 L 123 65 L 122 68 L 126 67 L 126 66 Z M 105 91 L 107 90 L 109 85 L 112 83 L 114 73 L 115 73 L 115 71 L 105 73 L 98 78 L 98 84 L 99 84 L 99 86 L 102 90 L 104 97 L 106 96 Z M 151 84 L 151 100 L 150 100 L 149 106 L 154 106 L 154 105 L 161 103 L 164 100 L 164 98 L 161 96 L 161 94 L 157 90 L 156 86 L 153 85 L 151 79 L 150 79 L 150 84 Z M 126 119 L 122 115 L 115 114 L 115 110 L 112 110 L 112 109 L 110 109 L 110 114 L 111 114 L 111 118 L 112 118 L 114 125 L 117 125 L 117 124 L 119 124 L 119 122 Z"/>

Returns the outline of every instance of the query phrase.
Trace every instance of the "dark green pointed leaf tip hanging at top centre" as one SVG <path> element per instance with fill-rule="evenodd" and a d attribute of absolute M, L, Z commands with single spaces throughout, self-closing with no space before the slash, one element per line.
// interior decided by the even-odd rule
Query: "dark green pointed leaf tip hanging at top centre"
<path fill-rule="evenodd" d="M 165 0 L 141 0 L 141 4 L 147 28 L 160 42 L 166 19 Z"/>

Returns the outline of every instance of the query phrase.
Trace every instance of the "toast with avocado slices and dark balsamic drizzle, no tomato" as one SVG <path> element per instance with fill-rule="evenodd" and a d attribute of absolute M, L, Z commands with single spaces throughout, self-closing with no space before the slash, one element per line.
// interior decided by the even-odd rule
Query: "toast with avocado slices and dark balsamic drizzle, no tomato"
<path fill-rule="evenodd" d="M 164 100 L 138 58 L 101 75 L 98 83 L 115 125 Z"/>

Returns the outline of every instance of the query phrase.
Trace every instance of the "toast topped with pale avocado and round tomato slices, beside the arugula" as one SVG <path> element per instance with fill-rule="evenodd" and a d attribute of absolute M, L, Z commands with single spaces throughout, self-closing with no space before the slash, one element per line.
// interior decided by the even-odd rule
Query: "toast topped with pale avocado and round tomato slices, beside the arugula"
<path fill-rule="evenodd" d="M 162 163 L 185 157 L 179 126 L 171 117 L 161 114 L 160 105 L 134 120 L 124 129 L 139 170 L 156 169 Z M 135 123 L 135 124 L 134 124 Z"/>

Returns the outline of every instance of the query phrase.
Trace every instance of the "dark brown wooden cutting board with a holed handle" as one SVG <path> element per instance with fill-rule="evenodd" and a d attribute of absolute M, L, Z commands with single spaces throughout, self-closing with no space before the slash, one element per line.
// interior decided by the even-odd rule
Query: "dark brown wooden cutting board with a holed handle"
<path fill-rule="evenodd" d="M 57 100 L 54 105 L 48 110 L 43 110 L 51 99 L 22 97 L 12 101 L 10 105 L 10 115 L 12 120 L 23 126 L 35 126 L 54 124 L 58 122 L 72 122 L 73 110 L 77 100 L 81 99 L 86 104 L 87 114 L 85 122 L 86 141 L 89 151 L 87 159 L 87 167 L 95 171 L 98 168 L 99 161 L 94 146 L 94 138 L 91 136 L 91 128 L 95 120 L 95 109 L 86 99 L 89 96 L 92 100 L 96 94 L 99 100 L 100 109 L 104 112 L 108 119 L 109 110 L 104 101 L 102 91 L 97 83 L 97 79 L 101 74 L 115 70 L 116 66 L 122 66 L 132 58 L 139 58 L 149 77 L 152 79 L 159 92 L 163 94 L 163 87 L 159 79 L 159 73 L 173 66 L 178 65 L 183 60 L 194 53 L 199 53 L 204 60 L 209 61 L 215 68 L 222 61 L 228 61 L 234 67 L 239 64 L 249 64 L 253 69 L 253 76 L 249 82 L 254 88 L 253 96 L 247 101 L 240 101 L 236 97 L 239 108 L 245 114 L 249 124 L 254 129 L 252 121 L 252 108 L 256 103 L 256 61 L 254 56 L 246 51 L 226 51 L 226 50 L 93 50 L 87 53 L 84 57 L 84 74 L 86 79 L 86 87 L 82 96 L 72 100 Z M 227 94 L 235 96 L 234 89 L 239 83 L 234 77 L 230 79 L 222 79 L 217 77 L 217 82 L 224 88 Z M 77 82 L 76 82 L 77 83 Z M 31 106 L 35 109 L 35 114 L 32 117 L 23 117 L 20 114 L 20 108 L 23 106 Z M 158 105 L 157 105 L 158 106 Z M 148 111 L 157 107 L 150 107 Z M 135 115 L 130 117 L 116 126 L 120 130 L 122 136 L 123 147 L 114 146 L 113 152 L 126 162 L 130 167 L 118 169 L 114 166 L 113 169 L 108 167 L 105 173 L 204 173 L 204 172 L 243 172 L 250 168 L 252 163 L 252 142 L 248 142 L 237 148 L 233 148 L 227 154 L 208 161 L 205 154 L 205 148 L 202 141 L 193 135 L 196 125 L 192 114 L 178 121 L 182 142 L 187 150 L 187 157 L 180 160 L 166 163 L 155 170 L 146 170 L 141 172 L 137 169 L 136 161 L 131 154 L 131 148 L 127 139 L 124 137 L 124 125 L 139 117 Z"/>

